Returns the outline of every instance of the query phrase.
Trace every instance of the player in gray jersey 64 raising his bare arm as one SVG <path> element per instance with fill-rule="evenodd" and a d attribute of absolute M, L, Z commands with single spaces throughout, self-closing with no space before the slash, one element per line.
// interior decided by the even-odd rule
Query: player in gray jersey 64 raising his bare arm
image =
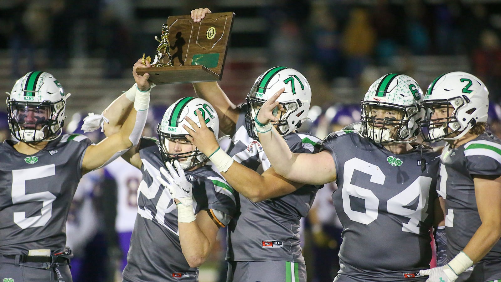
<path fill-rule="evenodd" d="M 329 134 L 318 154 L 291 152 L 272 126 L 277 107 L 284 110 L 275 101 L 281 94 L 260 108 L 256 130 L 283 177 L 316 185 L 336 181 L 332 198 L 344 231 L 334 281 L 424 281 L 419 270 L 429 268 L 432 254 L 439 154 L 411 146 L 424 117 L 416 81 L 395 73 L 377 79 L 362 100 L 359 130 Z M 435 220 L 439 224 L 443 215 Z"/>

